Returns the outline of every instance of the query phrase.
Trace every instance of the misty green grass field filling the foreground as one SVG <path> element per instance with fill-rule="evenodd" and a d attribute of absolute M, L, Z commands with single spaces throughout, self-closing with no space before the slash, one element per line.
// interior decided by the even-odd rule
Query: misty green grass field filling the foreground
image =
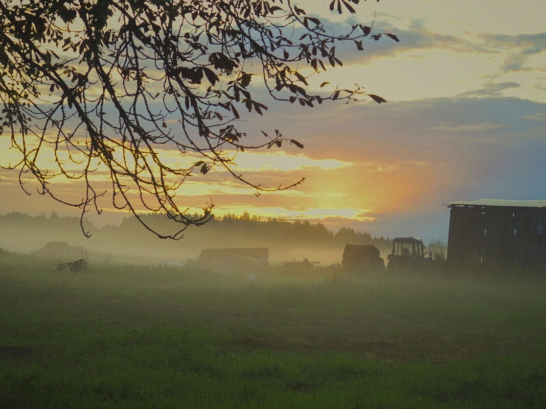
<path fill-rule="evenodd" d="M 2 408 L 546 407 L 546 280 L 0 254 Z"/>

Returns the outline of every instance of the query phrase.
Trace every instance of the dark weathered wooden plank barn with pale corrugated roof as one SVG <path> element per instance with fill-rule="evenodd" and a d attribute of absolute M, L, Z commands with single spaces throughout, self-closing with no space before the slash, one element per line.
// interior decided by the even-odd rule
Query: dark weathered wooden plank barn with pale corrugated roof
<path fill-rule="evenodd" d="M 546 200 L 450 202 L 448 262 L 453 266 L 546 267 Z"/>

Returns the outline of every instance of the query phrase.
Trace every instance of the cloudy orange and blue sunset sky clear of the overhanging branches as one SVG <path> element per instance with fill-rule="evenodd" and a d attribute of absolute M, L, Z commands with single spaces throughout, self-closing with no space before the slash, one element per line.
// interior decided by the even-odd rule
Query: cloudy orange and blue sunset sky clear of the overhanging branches
<path fill-rule="evenodd" d="M 387 103 L 361 98 L 310 109 L 275 103 L 257 87 L 269 110 L 240 128 L 258 138 L 279 129 L 305 148 L 245 152 L 238 170 L 270 187 L 305 182 L 257 197 L 212 169 L 180 190 L 192 210 L 212 199 L 216 215 L 248 211 L 430 242 L 447 241 L 443 203 L 546 199 L 546 3 L 370 0 L 356 15 L 331 13 L 329 2 L 293 3 L 327 25 L 373 21 L 374 32 L 400 39 L 365 41 L 361 52 L 341 46 L 343 67 L 310 80 L 317 90 L 324 81 L 331 89 L 358 83 Z M 2 148 L 0 163 L 8 155 Z M 13 174 L 0 177 L 0 213 L 73 214 L 25 195 Z M 106 204 L 102 215 L 88 216 L 101 225 L 120 214 Z"/>

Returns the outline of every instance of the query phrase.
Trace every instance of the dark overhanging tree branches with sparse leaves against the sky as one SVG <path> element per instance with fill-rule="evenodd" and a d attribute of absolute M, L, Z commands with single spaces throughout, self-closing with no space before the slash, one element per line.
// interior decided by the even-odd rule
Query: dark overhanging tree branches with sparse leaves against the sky
<path fill-rule="evenodd" d="M 358 3 L 333 0 L 329 8 L 354 13 Z M 223 167 L 257 194 L 302 181 L 266 188 L 236 172 L 235 155 L 246 149 L 303 147 L 278 130 L 256 142 L 238 129 L 240 112 L 268 109 L 251 83 L 308 107 L 354 99 L 362 88 L 308 92 L 305 73 L 342 65 L 338 44 L 363 50 L 364 39 L 398 41 L 363 25 L 334 34 L 289 0 L 0 0 L 0 14 L 0 132 L 19 151 L 3 168 L 19 170 L 27 193 L 30 177 L 40 194 L 81 208 L 80 224 L 108 194 L 116 209 L 175 239 L 210 219 L 212 203 L 199 218 L 179 203 L 177 189 L 191 176 Z M 57 194 L 59 178 L 79 181 L 81 200 Z M 179 228 L 154 231 L 139 209 L 163 211 Z"/>

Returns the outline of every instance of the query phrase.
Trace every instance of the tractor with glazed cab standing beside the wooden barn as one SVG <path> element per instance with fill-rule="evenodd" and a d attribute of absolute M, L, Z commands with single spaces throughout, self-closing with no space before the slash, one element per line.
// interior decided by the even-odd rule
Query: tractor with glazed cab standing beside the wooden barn
<path fill-rule="evenodd" d="M 415 237 L 396 237 L 393 251 L 387 256 L 387 270 L 421 268 L 432 261 L 431 251 L 425 251 L 423 240 Z"/>

